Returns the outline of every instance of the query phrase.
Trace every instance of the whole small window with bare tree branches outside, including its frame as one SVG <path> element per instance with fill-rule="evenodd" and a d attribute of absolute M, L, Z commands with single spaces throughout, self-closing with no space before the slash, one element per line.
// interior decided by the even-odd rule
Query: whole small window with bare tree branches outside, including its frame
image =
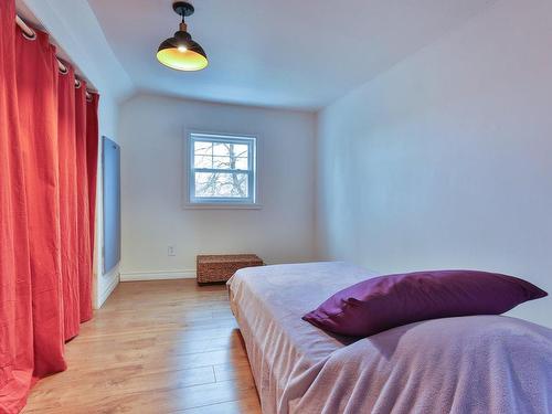
<path fill-rule="evenodd" d="M 188 144 L 191 204 L 255 204 L 255 137 L 192 132 Z"/>

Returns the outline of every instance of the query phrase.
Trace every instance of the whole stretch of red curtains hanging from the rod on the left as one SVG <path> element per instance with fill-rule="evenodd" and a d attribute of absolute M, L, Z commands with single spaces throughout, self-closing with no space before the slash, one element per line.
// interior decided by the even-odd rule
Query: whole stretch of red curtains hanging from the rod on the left
<path fill-rule="evenodd" d="M 98 146 L 97 96 L 14 19 L 0 0 L 0 413 L 65 370 L 64 343 L 92 318 Z"/>

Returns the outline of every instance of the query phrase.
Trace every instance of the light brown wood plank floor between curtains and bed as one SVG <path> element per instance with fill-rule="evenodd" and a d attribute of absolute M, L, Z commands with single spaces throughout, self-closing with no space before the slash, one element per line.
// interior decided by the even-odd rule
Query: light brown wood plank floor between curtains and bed
<path fill-rule="evenodd" d="M 23 413 L 261 413 L 224 286 L 123 283 L 66 360 Z"/>

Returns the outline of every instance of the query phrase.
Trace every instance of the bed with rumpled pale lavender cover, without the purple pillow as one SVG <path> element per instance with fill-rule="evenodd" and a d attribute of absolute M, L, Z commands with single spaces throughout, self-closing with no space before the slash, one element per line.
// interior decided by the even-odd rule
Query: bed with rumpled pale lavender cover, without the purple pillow
<path fill-rule="evenodd" d="M 552 330 L 505 316 L 353 339 L 301 320 L 374 276 L 346 263 L 246 268 L 227 283 L 264 414 L 552 413 Z"/>

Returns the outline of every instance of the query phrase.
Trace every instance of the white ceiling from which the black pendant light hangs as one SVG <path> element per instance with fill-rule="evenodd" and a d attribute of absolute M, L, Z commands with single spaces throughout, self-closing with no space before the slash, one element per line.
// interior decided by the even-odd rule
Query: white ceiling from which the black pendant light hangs
<path fill-rule="evenodd" d="M 140 92 L 309 110 L 388 71 L 496 1 L 192 0 L 190 32 L 210 66 L 180 73 L 156 61 L 159 43 L 178 28 L 171 0 L 25 0 L 49 3 L 84 41 L 107 41 L 110 55 L 89 54 L 105 61 L 116 84 L 127 87 L 126 75 Z M 103 34 L 83 32 L 82 19 L 92 24 L 85 4 Z"/>

